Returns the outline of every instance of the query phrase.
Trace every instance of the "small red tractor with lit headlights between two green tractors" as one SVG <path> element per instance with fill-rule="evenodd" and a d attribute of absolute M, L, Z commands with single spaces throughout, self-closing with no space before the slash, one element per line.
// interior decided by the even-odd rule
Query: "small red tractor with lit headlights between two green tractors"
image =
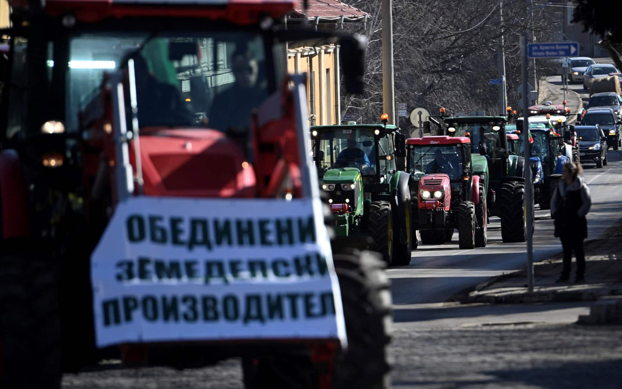
<path fill-rule="evenodd" d="M 414 229 L 424 244 L 442 244 L 458 229 L 461 249 L 485 247 L 486 183 L 473 175 L 468 137 L 406 140 L 407 169 L 419 182 Z M 478 156 L 479 157 L 479 156 Z"/>

